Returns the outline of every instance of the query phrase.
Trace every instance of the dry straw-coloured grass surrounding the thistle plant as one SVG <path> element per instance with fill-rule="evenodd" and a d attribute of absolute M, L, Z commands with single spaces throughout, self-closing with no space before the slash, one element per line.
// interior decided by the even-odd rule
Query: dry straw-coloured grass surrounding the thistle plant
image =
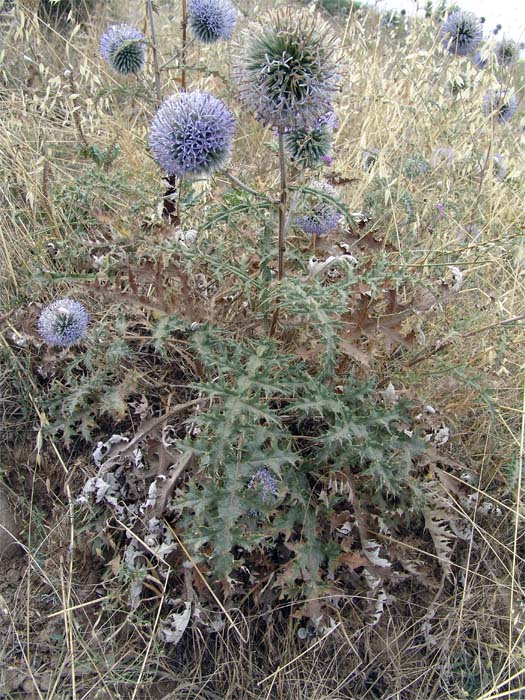
<path fill-rule="evenodd" d="M 143 5 L 129 3 L 126 11 L 117 2 L 99 3 L 89 21 L 68 27 L 66 34 L 43 24 L 28 3 L 2 17 L 4 311 L 45 301 L 49 273 L 57 273 L 57 292 L 62 289 L 57 250 L 61 255 L 60 245 L 68 241 L 78 245 L 82 235 L 78 222 L 72 223 L 71 202 L 81 196 L 86 174 L 83 141 L 102 150 L 115 142 L 120 148 L 115 162 L 119 182 L 113 189 L 98 187 L 89 203 L 94 219 L 84 223 L 90 232 L 96 229 L 97 211 L 104 210 L 125 241 L 133 236 L 138 217 L 147 218 L 162 195 L 145 148 L 155 109 L 151 66 L 140 81 L 121 81 L 106 71 L 97 51 L 110 19 L 145 28 Z M 166 47 L 164 63 L 178 43 L 178 3 L 159 5 L 156 22 L 159 45 Z M 261 10 L 254 4 L 247 14 Z M 123 599 L 106 594 L 95 558 L 73 556 L 79 527 L 74 498 L 92 475 L 91 466 L 81 449 L 67 452 L 53 440 L 41 444 L 47 417 L 36 411 L 36 380 L 12 348 L 17 328 L 7 319 L 0 343 L 11 352 L 12 364 L 2 368 L 1 470 L 23 523 L 23 554 L 7 565 L 5 581 L 0 581 L 0 683 L 3 679 L 6 688 L 0 688 L 0 696 L 525 697 L 520 479 L 525 453 L 525 118 L 521 110 L 509 127 L 486 120 L 479 105 L 492 84 L 490 73 L 436 57 L 427 25 L 402 41 L 386 37 L 379 22 L 373 13 L 338 22 L 348 62 L 335 147 L 337 170 L 349 180 L 342 196 L 351 211 L 359 210 L 372 179 L 384 177 L 383 234 L 398 247 L 399 260 L 419 280 L 430 283 L 436 270 L 439 275 L 455 265 L 464 281 L 445 313 L 418 320 L 425 345 L 401 359 L 379 357 L 376 371 L 439 410 L 452 429 L 450 454 L 475 475 L 471 488 L 479 494 L 479 504 L 498 510 L 462 513 L 472 535 L 458 546 L 454 585 L 443 581 L 437 591 L 408 581 L 399 585 L 377 626 L 364 623 L 358 596 L 348 595 L 344 605 L 334 606 L 333 629 L 306 642 L 298 639 L 300 618 L 288 606 L 285 613 L 264 615 L 223 609 L 226 624 L 217 634 L 188 629 L 183 641 L 170 648 L 156 637 L 154 610 L 160 611 L 160 604 L 130 612 Z M 190 63 L 197 67 L 190 72 L 191 84 L 230 99 L 230 50 L 191 47 Z M 66 70 L 72 71 L 71 79 L 64 76 Z M 454 99 L 448 84 L 458 73 L 466 75 L 469 87 Z M 163 73 L 164 94 L 176 88 L 176 77 L 175 70 Z M 270 139 L 251 118 L 239 115 L 232 169 L 263 190 L 275 190 L 278 178 L 262 146 Z M 430 159 L 444 146 L 454 149 L 456 164 L 427 184 L 411 183 L 418 215 L 413 223 L 398 222 L 396 178 L 405 156 L 415 152 Z M 366 172 L 362 151 L 374 147 L 380 149 L 379 161 Z M 505 182 L 492 172 L 495 152 L 508 162 Z M 477 175 L 473 162 L 479 164 Z M 438 203 L 445 205 L 445 218 L 430 231 L 422 222 L 428 222 Z M 458 228 L 472 223 L 481 229 L 480 238 L 458 243 Z M 63 289 L 76 279 L 65 275 Z M 24 404 L 12 390 L 13 376 L 27 387 Z M 514 474 L 513 483 L 508 473 Z M 167 595 L 161 591 L 161 602 Z"/>

